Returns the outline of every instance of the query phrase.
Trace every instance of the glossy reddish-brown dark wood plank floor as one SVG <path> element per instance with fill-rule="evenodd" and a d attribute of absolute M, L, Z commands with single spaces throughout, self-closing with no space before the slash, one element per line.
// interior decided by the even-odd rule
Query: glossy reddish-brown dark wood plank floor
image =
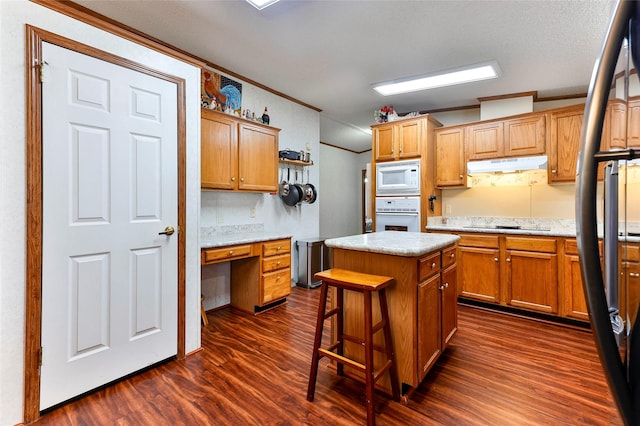
<path fill-rule="evenodd" d="M 258 316 L 210 313 L 203 351 L 45 414 L 40 425 L 364 424 L 364 386 L 322 360 L 306 400 L 319 291 Z M 379 425 L 621 425 L 588 331 L 461 306 L 459 331 Z"/>

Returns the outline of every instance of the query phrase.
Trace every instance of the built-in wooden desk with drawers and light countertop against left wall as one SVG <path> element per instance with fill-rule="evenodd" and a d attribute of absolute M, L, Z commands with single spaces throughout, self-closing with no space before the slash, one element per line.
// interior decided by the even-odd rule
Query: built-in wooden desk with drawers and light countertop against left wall
<path fill-rule="evenodd" d="M 259 313 L 291 294 L 291 237 L 229 235 L 203 240 L 201 265 L 231 264 L 231 306 Z"/>

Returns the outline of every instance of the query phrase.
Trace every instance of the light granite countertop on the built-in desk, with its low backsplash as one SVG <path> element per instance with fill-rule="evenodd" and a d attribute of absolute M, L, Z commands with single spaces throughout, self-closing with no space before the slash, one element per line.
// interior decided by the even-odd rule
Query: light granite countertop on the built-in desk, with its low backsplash
<path fill-rule="evenodd" d="M 210 226 L 200 228 L 200 248 L 226 247 L 291 237 L 290 233 L 266 232 L 263 224 Z"/>

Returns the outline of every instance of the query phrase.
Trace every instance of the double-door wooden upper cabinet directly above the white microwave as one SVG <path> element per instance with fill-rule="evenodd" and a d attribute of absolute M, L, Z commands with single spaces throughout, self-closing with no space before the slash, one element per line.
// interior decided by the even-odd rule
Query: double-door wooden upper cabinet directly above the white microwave
<path fill-rule="evenodd" d="M 420 157 L 422 118 L 401 119 L 373 127 L 373 148 L 376 161 L 402 160 Z"/>

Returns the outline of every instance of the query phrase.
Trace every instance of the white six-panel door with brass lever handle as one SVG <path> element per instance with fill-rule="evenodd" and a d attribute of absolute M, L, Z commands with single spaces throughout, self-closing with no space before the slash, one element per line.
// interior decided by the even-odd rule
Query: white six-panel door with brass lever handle
<path fill-rule="evenodd" d="M 177 87 L 44 43 L 40 409 L 177 353 Z"/>

